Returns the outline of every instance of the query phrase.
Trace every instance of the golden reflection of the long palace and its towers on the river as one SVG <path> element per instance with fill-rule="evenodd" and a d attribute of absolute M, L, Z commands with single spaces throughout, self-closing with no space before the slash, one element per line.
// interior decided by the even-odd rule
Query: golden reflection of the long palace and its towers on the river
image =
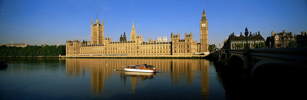
<path fill-rule="evenodd" d="M 122 66 L 141 63 L 156 66 L 157 73 L 127 72 L 122 70 Z M 95 98 L 110 96 L 111 93 L 106 92 L 106 90 L 110 90 L 109 88 L 112 87 L 110 85 L 116 84 L 119 87 L 126 84 L 127 81 L 130 81 L 128 83 L 131 87 L 123 88 L 132 89 L 132 94 L 148 91 L 144 86 L 153 83 L 144 81 L 152 80 L 150 82 L 163 82 L 165 85 L 171 86 L 171 89 L 180 88 L 183 84 L 184 87 L 200 86 L 196 90 L 188 88 L 187 90 L 190 91 L 191 95 L 198 92 L 197 94 L 200 94 L 199 97 L 207 99 L 209 94 L 208 66 L 209 61 L 205 59 L 66 59 L 66 76 L 86 77 L 86 75 L 90 74 L 91 95 Z M 160 78 L 155 78 L 156 75 Z M 120 77 L 123 83 L 113 83 L 116 80 L 111 79 L 116 79 L 117 77 Z M 144 90 L 137 90 L 136 88 L 144 88 Z M 170 90 L 161 89 L 157 90 L 161 95 L 164 92 L 168 94 L 170 92 Z M 151 90 L 154 91 L 153 89 Z M 174 93 L 180 92 L 176 91 Z"/>

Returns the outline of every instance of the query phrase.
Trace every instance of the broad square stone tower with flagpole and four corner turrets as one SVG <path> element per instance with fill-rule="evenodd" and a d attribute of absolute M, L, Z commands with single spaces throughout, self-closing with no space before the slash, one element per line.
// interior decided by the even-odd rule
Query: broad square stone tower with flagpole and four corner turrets
<path fill-rule="evenodd" d="M 91 20 L 91 44 L 92 45 L 103 45 L 104 40 L 104 25 L 103 25 L 103 19 L 102 23 L 99 23 L 98 20 L 98 12 L 97 12 L 97 20 L 96 23 L 93 24 L 93 18 Z"/>

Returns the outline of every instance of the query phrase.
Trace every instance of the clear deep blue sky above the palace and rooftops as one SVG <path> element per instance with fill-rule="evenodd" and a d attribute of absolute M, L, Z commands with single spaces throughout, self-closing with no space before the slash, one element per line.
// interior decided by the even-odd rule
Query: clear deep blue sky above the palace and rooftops
<path fill-rule="evenodd" d="M 134 20 L 143 41 L 192 31 L 200 42 L 203 5 L 208 19 L 208 43 L 222 43 L 235 32 L 260 31 L 263 38 L 271 31 L 307 29 L 306 0 L 0 0 L 0 44 L 26 43 L 65 45 L 66 39 L 91 41 L 91 18 L 104 20 L 104 36 L 127 41 Z M 219 46 L 218 46 L 219 47 Z"/>

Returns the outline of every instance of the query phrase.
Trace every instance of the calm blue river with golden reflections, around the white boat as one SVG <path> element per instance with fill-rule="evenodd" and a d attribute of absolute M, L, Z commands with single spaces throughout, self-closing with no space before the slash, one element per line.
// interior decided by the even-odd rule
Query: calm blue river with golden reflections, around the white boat
<path fill-rule="evenodd" d="M 0 58 L 0 99 L 256 99 L 248 80 L 207 59 Z M 147 63 L 157 73 L 123 71 Z M 116 71 L 115 71 L 116 70 Z M 272 98 L 272 97 L 271 97 Z M 274 97 L 273 97 L 274 98 Z"/>

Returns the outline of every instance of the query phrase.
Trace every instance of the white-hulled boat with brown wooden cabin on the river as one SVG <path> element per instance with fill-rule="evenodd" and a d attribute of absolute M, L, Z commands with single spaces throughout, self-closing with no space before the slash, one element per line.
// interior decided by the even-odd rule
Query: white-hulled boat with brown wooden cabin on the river
<path fill-rule="evenodd" d="M 155 66 L 147 65 L 147 63 L 142 63 L 141 65 L 127 65 L 124 68 L 125 71 L 130 72 L 148 72 L 148 73 L 154 73 L 156 72 Z"/>

